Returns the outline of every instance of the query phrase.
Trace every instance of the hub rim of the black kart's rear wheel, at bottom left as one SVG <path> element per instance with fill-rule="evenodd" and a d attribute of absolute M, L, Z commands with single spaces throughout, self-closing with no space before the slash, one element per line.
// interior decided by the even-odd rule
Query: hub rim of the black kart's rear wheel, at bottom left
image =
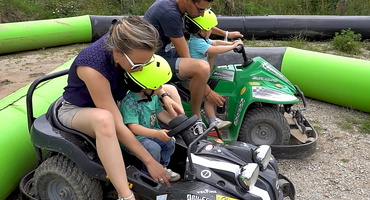
<path fill-rule="evenodd" d="M 49 199 L 76 199 L 73 189 L 68 185 L 66 181 L 61 179 L 50 181 L 47 187 L 47 192 Z"/>

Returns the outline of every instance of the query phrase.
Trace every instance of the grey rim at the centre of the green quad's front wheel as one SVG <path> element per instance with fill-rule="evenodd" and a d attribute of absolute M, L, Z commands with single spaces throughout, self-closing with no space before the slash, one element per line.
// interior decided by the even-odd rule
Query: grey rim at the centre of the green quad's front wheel
<path fill-rule="evenodd" d="M 269 124 L 259 124 L 252 129 L 251 139 L 254 144 L 273 144 L 276 133 Z"/>

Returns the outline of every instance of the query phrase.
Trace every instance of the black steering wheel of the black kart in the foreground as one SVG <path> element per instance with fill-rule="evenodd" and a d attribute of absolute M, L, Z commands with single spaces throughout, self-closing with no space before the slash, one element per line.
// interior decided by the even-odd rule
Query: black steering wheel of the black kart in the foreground
<path fill-rule="evenodd" d="M 193 124 L 195 124 L 197 120 L 198 116 L 196 115 L 193 115 L 190 118 L 188 118 L 184 114 L 178 115 L 168 123 L 171 130 L 167 133 L 167 135 L 170 137 L 178 135 L 187 130 Z"/>

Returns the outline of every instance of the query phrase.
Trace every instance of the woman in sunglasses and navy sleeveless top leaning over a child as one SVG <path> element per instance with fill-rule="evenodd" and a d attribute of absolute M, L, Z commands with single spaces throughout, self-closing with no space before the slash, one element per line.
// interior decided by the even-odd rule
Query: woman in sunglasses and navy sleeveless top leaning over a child
<path fill-rule="evenodd" d="M 123 84 L 124 72 L 145 70 L 159 46 L 158 32 L 152 25 L 140 17 L 124 17 L 114 20 L 109 33 L 81 51 L 69 70 L 59 120 L 96 138 L 99 158 L 119 199 L 135 197 L 128 187 L 118 140 L 146 165 L 154 180 L 169 184 L 168 173 L 124 125 L 117 107 L 128 90 Z M 159 94 L 172 116 L 184 112 L 174 87 L 164 86 Z"/>

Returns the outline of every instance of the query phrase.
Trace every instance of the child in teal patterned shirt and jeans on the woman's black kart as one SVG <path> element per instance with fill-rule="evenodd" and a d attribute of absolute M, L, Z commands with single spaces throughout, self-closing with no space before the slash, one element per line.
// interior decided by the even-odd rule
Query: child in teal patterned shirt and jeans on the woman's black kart
<path fill-rule="evenodd" d="M 155 55 L 155 61 L 145 70 L 125 73 L 125 82 L 130 91 L 120 104 L 124 123 L 136 135 L 140 143 L 153 158 L 161 163 L 170 175 L 170 181 L 178 181 L 180 175 L 167 168 L 171 155 L 175 151 L 175 139 L 167 135 L 168 130 L 162 129 L 158 119 L 168 123 L 169 114 L 160 104 L 156 90 L 171 79 L 172 72 L 169 64 L 161 56 Z M 163 95 L 162 95 L 163 97 Z M 144 171 L 146 168 L 144 166 Z"/>

